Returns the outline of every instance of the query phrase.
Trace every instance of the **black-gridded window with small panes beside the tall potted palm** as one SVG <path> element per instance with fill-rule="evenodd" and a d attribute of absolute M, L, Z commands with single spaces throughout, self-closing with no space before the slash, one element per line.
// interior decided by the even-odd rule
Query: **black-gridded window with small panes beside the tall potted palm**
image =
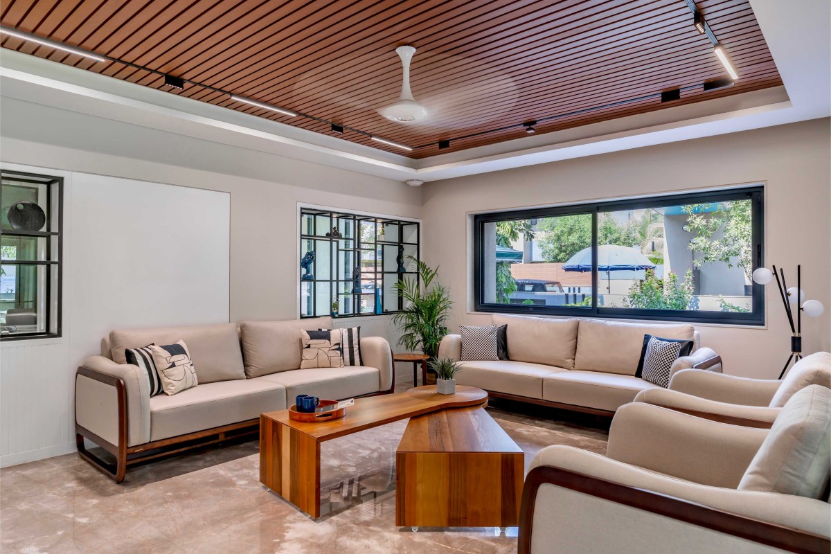
<path fill-rule="evenodd" d="M 395 290 L 416 274 L 419 223 L 300 209 L 300 317 L 355 317 L 403 307 Z"/>

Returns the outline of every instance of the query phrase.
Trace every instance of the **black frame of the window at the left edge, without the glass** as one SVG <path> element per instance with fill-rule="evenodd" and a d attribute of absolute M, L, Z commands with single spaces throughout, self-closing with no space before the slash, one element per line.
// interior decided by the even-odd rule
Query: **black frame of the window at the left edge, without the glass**
<path fill-rule="evenodd" d="M 35 232 L 10 232 L 8 229 L 0 228 L 0 237 L 7 234 L 9 236 L 17 237 L 35 237 L 47 238 L 47 260 L 24 260 L 24 261 L 7 261 L 3 265 L 16 265 L 18 267 L 24 265 L 34 266 L 56 266 L 57 275 L 55 279 L 57 283 L 52 283 L 52 272 L 46 273 L 46 321 L 44 329 L 46 331 L 33 331 L 15 333 L 14 335 L 0 335 L 0 341 L 32 341 L 37 339 L 55 339 L 60 338 L 63 332 L 63 191 L 64 178 L 55 175 L 35 174 L 27 171 L 17 171 L 16 169 L 0 168 L 2 177 L 9 175 L 12 179 L 20 180 L 21 182 L 30 182 L 47 185 L 47 203 L 50 206 L 49 218 L 47 218 L 47 230 Z M 27 180 L 27 178 L 29 178 Z M 2 180 L 2 179 L 0 179 Z M 0 185 L 2 187 L 2 185 Z M 56 198 L 57 196 L 57 198 Z M 0 197 L 2 197 L 2 190 L 0 190 Z M 52 213 L 53 203 L 57 201 L 57 214 Z M 54 227 L 54 228 L 53 228 Z M 53 256 L 52 241 L 49 238 L 57 237 L 57 257 Z M 52 302 L 52 286 L 55 285 L 55 302 Z M 53 307 L 54 306 L 54 307 Z M 54 319 L 53 319 L 54 318 Z M 54 331 L 52 331 L 52 324 L 54 323 Z"/>

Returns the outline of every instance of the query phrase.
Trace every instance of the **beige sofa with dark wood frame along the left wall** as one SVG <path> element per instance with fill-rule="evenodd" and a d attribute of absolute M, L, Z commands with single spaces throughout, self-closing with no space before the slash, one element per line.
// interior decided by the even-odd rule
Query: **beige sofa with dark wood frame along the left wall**
<path fill-rule="evenodd" d="M 285 409 L 299 394 L 342 400 L 392 392 L 392 351 L 377 336 L 361 338 L 364 365 L 298 369 L 300 330 L 318 328 L 332 328 L 332 318 L 112 331 L 101 355 L 76 372 L 79 453 L 120 482 L 128 464 L 160 449 L 255 434 L 259 414 Z M 125 349 L 179 340 L 188 346 L 199 385 L 151 397 L 147 376 L 126 363 Z M 86 451 L 84 438 L 111 452 L 116 463 Z"/>

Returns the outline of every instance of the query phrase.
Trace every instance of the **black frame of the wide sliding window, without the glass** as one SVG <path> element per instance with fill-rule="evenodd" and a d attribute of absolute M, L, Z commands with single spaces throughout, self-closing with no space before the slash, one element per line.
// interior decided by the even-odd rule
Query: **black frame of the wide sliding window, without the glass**
<path fill-rule="evenodd" d="M 764 266 L 765 256 L 765 187 L 753 184 L 727 189 L 709 189 L 684 194 L 666 194 L 635 199 L 601 200 L 588 203 L 574 203 L 548 208 L 528 208 L 499 212 L 477 213 L 474 215 L 474 309 L 490 313 L 514 313 L 524 315 L 598 317 L 603 319 L 671 321 L 689 323 L 712 323 L 721 325 L 764 326 L 765 287 L 753 282 L 751 289 L 751 310 L 749 312 L 698 311 L 698 310 L 645 310 L 638 308 L 597 306 L 597 219 L 599 213 L 628 209 L 658 208 L 684 203 L 714 203 L 730 200 L 750 199 L 751 242 L 753 244 L 753 268 Z M 592 306 L 527 306 L 523 304 L 497 304 L 483 302 L 484 272 L 482 270 L 482 240 L 484 225 L 517 219 L 539 219 L 553 216 L 592 215 Z M 703 315 L 706 314 L 706 315 Z"/>

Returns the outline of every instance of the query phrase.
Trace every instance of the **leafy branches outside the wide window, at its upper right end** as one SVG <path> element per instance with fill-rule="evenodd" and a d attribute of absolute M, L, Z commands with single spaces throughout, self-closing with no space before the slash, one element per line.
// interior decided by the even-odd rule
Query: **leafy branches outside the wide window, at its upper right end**
<path fill-rule="evenodd" d="M 710 213 L 696 213 L 713 208 Z M 725 262 L 733 267 L 735 258 L 745 271 L 747 282 L 753 272 L 752 206 L 750 200 L 732 200 L 715 204 L 690 204 L 681 208 L 689 217 L 686 228 L 695 235 L 687 248 L 696 252 L 693 263 L 701 267 L 708 262 Z M 716 233 L 721 233 L 715 238 Z"/>

